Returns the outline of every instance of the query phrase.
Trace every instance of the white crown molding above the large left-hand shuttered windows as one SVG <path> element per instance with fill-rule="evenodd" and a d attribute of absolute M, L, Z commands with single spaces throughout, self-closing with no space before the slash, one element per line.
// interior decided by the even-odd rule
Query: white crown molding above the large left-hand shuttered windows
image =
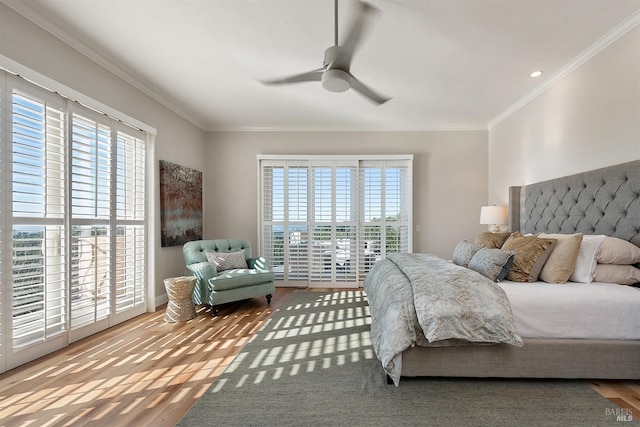
<path fill-rule="evenodd" d="M 52 34 L 54 37 L 58 38 L 62 42 L 68 44 L 73 49 L 80 52 L 82 55 L 91 59 L 101 67 L 105 68 L 107 71 L 121 78 L 125 82 L 129 83 L 131 86 L 135 87 L 145 95 L 154 99 L 155 101 L 162 104 L 164 107 L 173 111 L 183 119 L 187 120 L 194 126 L 199 127 L 200 129 L 205 129 L 205 124 L 201 121 L 193 117 L 192 114 L 187 113 L 182 108 L 179 108 L 177 105 L 167 100 L 166 98 L 160 96 L 154 90 L 149 88 L 139 79 L 135 78 L 129 72 L 123 70 L 121 67 L 118 67 L 113 63 L 113 61 L 108 60 L 102 55 L 99 55 L 94 50 L 92 50 L 89 46 L 83 43 L 78 37 L 73 35 L 71 32 L 64 29 L 62 25 L 57 22 L 54 22 L 50 17 L 43 15 L 37 9 L 35 9 L 29 2 L 20 1 L 20 0 L 0 0 L 0 2 L 4 3 L 20 15 L 27 18 L 29 21 L 36 24 L 38 27 Z"/>

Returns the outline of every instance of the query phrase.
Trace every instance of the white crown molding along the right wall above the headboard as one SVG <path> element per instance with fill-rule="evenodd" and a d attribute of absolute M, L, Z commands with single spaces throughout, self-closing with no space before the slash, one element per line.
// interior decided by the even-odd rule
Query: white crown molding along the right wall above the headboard
<path fill-rule="evenodd" d="M 494 126 L 514 114 L 516 111 L 520 110 L 522 107 L 533 101 L 535 98 L 543 94 L 547 89 L 558 83 L 560 80 L 565 78 L 567 75 L 571 74 L 578 67 L 580 67 L 585 62 L 589 61 L 591 58 L 605 50 L 607 47 L 611 46 L 616 40 L 627 34 L 629 31 L 634 29 L 636 26 L 640 24 L 640 9 L 636 11 L 629 18 L 625 19 L 616 26 L 614 29 L 609 31 L 607 34 L 598 39 L 595 43 L 589 46 L 584 52 L 576 56 L 572 61 L 570 61 L 567 65 L 562 67 L 556 73 L 551 75 L 548 79 L 542 82 L 539 86 L 533 89 L 531 92 L 527 93 L 525 96 L 520 98 L 514 104 L 512 104 L 509 108 L 504 110 L 502 113 L 497 115 L 493 120 L 487 123 L 487 128 L 491 130 Z"/>

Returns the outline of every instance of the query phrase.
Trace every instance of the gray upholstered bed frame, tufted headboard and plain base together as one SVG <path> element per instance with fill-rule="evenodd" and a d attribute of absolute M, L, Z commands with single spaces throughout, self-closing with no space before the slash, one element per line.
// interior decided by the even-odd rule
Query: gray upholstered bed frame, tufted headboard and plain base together
<path fill-rule="evenodd" d="M 605 234 L 640 246 L 640 160 L 510 188 L 511 231 Z M 402 376 L 640 379 L 640 340 L 414 347 Z"/>

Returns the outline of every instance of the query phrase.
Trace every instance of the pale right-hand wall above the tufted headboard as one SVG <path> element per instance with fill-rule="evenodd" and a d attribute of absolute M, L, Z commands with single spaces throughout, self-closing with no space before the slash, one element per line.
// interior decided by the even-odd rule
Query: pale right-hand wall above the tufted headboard
<path fill-rule="evenodd" d="M 489 202 L 508 187 L 640 159 L 640 27 L 489 132 Z"/>

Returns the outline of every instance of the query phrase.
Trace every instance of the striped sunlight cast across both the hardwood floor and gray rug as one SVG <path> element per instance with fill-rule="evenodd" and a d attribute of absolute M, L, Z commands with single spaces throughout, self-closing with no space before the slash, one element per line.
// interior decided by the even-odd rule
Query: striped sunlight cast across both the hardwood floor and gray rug
<path fill-rule="evenodd" d="M 74 352 L 47 359 L 48 366 L 20 368 L 26 372 L 20 383 L 6 388 L 10 394 L 0 392 L 0 425 L 111 425 L 127 414 L 139 417 L 141 408 L 157 412 L 171 403 L 195 402 L 226 368 L 250 366 L 250 373 L 233 385 L 242 387 L 371 359 L 369 334 L 353 332 L 368 325 L 368 306 L 348 307 L 365 300 L 361 291 L 322 293 L 311 304 L 283 308 L 286 315 L 277 323 L 267 316 L 256 323 L 249 314 L 232 313 L 224 315 L 225 328 L 217 331 L 208 313 L 190 321 L 204 326 L 192 328 L 167 324 L 158 311 L 125 334 L 76 343 Z M 256 332 L 259 327 L 273 332 L 263 336 Z M 314 338 L 319 333 L 325 338 Z M 300 342 L 301 337 L 306 339 Z M 292 338 L 298 343 L 287 341 Z M 272 345 L 256 354 L 237 353 L 250 339 Z M 184 362 L 200 354 L 200 361 Z M 46 385 L 54 382 L 55 387 Z M 225 383 L 220 378 L 212 390 Z M 179 391 L 171 393 L 174 387 Z"/>

